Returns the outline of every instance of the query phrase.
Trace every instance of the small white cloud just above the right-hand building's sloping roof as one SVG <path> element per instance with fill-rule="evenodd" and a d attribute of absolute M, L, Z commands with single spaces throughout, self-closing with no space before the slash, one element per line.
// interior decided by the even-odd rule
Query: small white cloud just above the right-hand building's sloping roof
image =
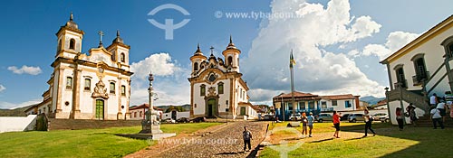
<path fill-rule="evenodd" d="M 398 51 L 417 37 L 419 37 L 417 33 L 393 32 L 389 34 L 385 44 L 368 44 L 363 48 L 361 55 L 374 55 L 379 57 L 379 60 L 384 60 L 391 53 Z"/>

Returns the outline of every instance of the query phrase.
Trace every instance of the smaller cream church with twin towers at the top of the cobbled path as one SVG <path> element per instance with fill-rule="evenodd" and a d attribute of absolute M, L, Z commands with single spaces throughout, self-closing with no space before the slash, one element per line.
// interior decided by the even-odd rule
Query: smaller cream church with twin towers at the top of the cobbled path
<path fill-rule="evenodd" d="M 248 87 L 239 72 L 239 54 L 231 41 L 222 58 L 212 53 L 209 58 L 200 51 L 190 57 L 192 73 L 190 82 L 190 117 L 222 117 L 253 119 L 255 109 L 248 101 Z M 255 114 L 255 115 L 253 115 Z"/>

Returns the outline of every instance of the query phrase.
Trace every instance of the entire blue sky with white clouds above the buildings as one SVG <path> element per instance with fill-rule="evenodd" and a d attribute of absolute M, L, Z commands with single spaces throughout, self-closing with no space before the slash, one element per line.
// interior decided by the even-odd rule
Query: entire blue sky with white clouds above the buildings
<path fill-rule="evenodd" d="M 147 15 L 165 4 L 179 5 L 190 15 L 175 10 Z M 103 42 L 110 44 L 116 30 L 120 30 L 124 42 L 131 46 L 130 64 L 137 70 L 132 78 L 131 105 L 146 101 L 143 77 L 149 70 L 156 71 L 157 104 L 178 105 L 189 103 L 188 58 L 196 51 L 197 43 L 205 55 L 214 46 L 218 56 L 225 50 L 230 34 L 242 51 L 241 72 L 255 103 L 268 103 L 275 94 L 289 90 L 290 49 L 294 49 L 297 61 L 297 90 L 381 97 L 388 78 L 380 58 L 447 18 L 452 14 L 450 5 L 448 0 L 4 2 L 0 6 L 0 108 L 26 106 L 42 99 L 53 71 L 50 64 L 57 43 L 55 33 L 71 12 L 74 22 L 85 32 L 83 52 L 98 45 L 99 31 L 105 33 Z M 215 16 L 217 11 L 223 13 L 221 18 Z M 227 13 L 250 12 L 304 17 L 226 18 Z M 190 21 L 175 30 L 173 40 L 165 40 L 164 31 L 150 24 L 150 18 L 160 23 L 167 18 L 175 23 Z M 340 28 L 337 33 L 331 32 L 332 25 Z M 150 60 L 153 63 L 147 63 Z M 322 63 L 329 70 L 318 68 Z M 368 86 L 359 88 L 357 84 Z"/>

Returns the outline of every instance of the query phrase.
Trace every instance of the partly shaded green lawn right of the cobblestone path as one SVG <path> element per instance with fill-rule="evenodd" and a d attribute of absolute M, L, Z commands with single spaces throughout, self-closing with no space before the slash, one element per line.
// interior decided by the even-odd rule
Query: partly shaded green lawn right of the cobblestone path
<path fill-rule="evenodd" d="M 362 133 L 363 128 L 363 123 L 342 123 L 342 131 Z M 378 132 L 377 136 L 304 143 L 289 152 L 288 157 L 451 157 L 453 155 L 450 153 L 453 147 L 451 144 L 453 129 L 451 128 L 434 130 L 430 127 L 409 126 L 400 131 L 397 126 L 381 123 L 374 124 L 373 128 Z M 314 129 L 317 129 L 318 133 L 333 134 L 332 123 L 317 123 Z M 277 134 L 284 135 L 284 132 Z M 292 145 L 294 144 L 265 147 L 260 157 L 278 157 L 280 152 L 276 150 L 282 151 L 280 149 L 288 149 Z"/>

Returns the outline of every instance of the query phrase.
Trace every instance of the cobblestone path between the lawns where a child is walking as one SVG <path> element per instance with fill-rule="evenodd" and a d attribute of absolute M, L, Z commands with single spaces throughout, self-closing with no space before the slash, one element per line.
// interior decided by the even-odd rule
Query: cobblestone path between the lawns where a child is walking
<path fill-rule="evenodd" d="M 147 153 L 133 157 L 254 157 L 255 151 L 244 152 L 242 132 L 244 126 L 252 132 L 252 150 L 263 141 L 267 122 L 240 121 L 219 126 L 211 131 L 198 132 L 195 135 L 177 136 L 159 142 L 172 148 L 152 156 Z M 149 149 L 152 150 L 152 149 Z M 158 153 L 158 152 L 156 152 Z"/>

